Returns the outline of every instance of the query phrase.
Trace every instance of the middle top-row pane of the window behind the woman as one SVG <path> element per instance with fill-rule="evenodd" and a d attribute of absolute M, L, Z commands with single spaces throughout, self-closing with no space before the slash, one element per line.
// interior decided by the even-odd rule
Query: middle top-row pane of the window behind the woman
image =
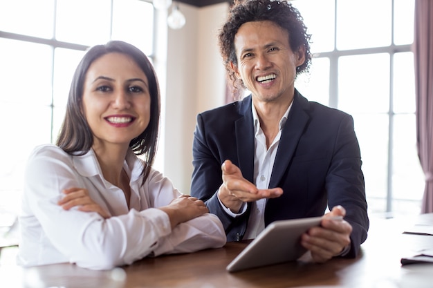
<path fill-rule="evenodd" d="M 56 39 L 93 46 L 110 39 L 111 1 L 57 1 Z"/>

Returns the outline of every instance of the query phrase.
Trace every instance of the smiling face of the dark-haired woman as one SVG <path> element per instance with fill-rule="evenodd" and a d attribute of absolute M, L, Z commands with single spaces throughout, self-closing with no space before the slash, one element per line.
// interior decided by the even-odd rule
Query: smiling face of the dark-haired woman
<path fill-rule="evenodd" d="M 110 53 L 95 60 L 84 81 L 84 117 L 104 155 L 110 144 L 129 144 L 150 121 L 149 81 L 130 57 Z M 152 127 L 153 128 L 153 127 Z"/>

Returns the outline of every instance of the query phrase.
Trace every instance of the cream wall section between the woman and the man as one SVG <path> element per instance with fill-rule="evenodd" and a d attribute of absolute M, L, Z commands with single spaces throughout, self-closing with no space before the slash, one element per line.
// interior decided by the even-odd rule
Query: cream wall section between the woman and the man
<path fill-rule="evenodd" d="M 187 22 L 167 31 L 167 73 L 163 139 L 163 171 L 183 193 L 190 193 L 192 138 L 197 113 L 224 102 L 225 70 L 216 33 L 228 3 L 204 8 L 179 5 Z M 165 88 L 165 89 L 164 89 Z"/>

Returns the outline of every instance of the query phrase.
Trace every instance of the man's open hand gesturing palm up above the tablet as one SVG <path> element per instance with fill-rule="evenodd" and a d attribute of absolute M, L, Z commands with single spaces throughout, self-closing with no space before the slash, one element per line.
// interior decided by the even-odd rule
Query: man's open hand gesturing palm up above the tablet
<path fill-rule="evenodd" d="M 243 202 L 253 202 L 262 198 L 277 198 L 282 195 L 281 188 L 257 189 L 243 178 L 241 170 L 230 160 L 225 160 L 221 166 L 223 184 L 219 187 L 219 199 L 230 211 L 237 213 Z"/>

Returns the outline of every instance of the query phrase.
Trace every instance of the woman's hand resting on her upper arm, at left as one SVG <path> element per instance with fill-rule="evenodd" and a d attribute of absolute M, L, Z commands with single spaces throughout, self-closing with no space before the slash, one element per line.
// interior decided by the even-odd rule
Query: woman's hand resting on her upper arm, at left
<path fill-rule="evenodd" d="M 64 198 L 57 202 L 57 204 L 62 206 L 63 209 L 69 210 L 72 207 L 77 206 L 77 209 L 80 211 L 96 212 L 104 219 L 110 218 L 109 213 L 90 198 L 87 189 L 74 187 L 71 189 L 65 189 L 63 193 L 65 194 Z"/>

